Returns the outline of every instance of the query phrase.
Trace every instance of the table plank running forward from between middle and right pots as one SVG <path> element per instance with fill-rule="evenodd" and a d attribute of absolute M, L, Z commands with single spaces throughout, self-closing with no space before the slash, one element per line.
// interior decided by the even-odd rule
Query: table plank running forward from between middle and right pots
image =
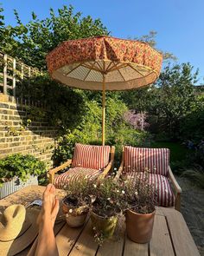
<path fill-rule="evenodd" d="M 118 220 L 116 231 L 111 240 L 105 241 L 102 246 L 99 246 L 97 256 L 120 256 L 124 248 L 124 234 L 125 234 L 124 217 Z"/>

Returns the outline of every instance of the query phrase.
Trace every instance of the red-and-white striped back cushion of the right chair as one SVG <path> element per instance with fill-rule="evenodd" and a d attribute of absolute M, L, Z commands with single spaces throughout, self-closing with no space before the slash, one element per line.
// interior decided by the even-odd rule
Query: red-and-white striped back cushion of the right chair
<path fill-rule="evenodd" d="M 149 169 L 151 174 L 168 175 L 169 148 L 133 148 L 124 147 L 124 171 L 143 172 Z"/>

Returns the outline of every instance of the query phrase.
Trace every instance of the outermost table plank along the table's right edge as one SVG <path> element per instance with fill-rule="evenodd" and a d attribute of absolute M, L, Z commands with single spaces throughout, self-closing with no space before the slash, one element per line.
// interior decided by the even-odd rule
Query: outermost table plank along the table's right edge
<path fill-rule="evenodd" d="M 176 256 L 200 256 L 182 213 L 167 208 L 165 209 L 165 215 Z"/>

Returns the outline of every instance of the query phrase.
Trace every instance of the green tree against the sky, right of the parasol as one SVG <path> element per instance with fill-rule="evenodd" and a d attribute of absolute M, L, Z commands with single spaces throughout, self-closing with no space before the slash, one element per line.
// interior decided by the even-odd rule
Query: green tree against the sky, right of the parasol
<path fill-rule="evenodd" d="M 160 99 L 157 108 L 160 116 L 165 117 L 169 135 L 173 138 L 180 135 L 182 118 L 188 115 L 193 108 L 194 83 L 198 75 L 198 70 L 192 74 L 193 68 L 189 63 L 167 66 L 157 82 L 160 88 L 157 95 Z"/>

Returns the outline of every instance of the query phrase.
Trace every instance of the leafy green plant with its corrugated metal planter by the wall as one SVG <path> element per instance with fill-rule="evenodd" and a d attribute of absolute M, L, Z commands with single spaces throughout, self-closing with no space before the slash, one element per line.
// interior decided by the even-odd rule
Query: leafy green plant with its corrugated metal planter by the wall
<path fill-rule="evenodd" d="M 38 176 L 46 174 L 46 165 L 30 154 L 10 154 L 0 160 L 0 198 L 22 187 L 37 185 Z"/>

